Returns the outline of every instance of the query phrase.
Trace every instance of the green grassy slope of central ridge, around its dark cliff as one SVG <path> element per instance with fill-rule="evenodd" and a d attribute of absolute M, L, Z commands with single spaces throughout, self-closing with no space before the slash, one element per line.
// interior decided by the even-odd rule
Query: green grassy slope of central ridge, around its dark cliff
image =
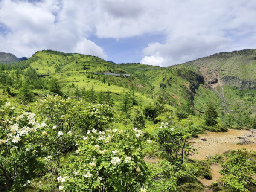
<path fill-rule="evenodd" d="M 119 64 L 124 70 L 138 76 L 140 79 L 154 87 L 154 95 L 165 96 L 167 103 L 171 105 L 182 105 L 194 95 L 192 83 L 196 76 L 191 75 L 191 71 L 184 67 L 156 67 L 144 64 Z M 160 88 L 160 84 L 166 85 Z M 195 89 L 194 107 L 198 111 L 204 112 L 207 102 L 215 102 L 218 109 L 221 109 L 221 100 L 215 93 L 203 86 Z M 206 97 L 209 95 L 209 97 Z"/>

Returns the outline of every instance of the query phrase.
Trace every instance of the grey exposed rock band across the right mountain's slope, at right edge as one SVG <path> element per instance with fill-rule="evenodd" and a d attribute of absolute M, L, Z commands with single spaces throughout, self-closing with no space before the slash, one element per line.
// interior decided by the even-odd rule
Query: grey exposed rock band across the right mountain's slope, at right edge
<path fill-rule="evenodd" d="M 242 80 L 234 76 L 223 76 L 221 78 L 221 81 L 223 82 L 223 84 L 239 86 L 237 88 L 240 89 L 256 89 L 256 81 Z"/>

